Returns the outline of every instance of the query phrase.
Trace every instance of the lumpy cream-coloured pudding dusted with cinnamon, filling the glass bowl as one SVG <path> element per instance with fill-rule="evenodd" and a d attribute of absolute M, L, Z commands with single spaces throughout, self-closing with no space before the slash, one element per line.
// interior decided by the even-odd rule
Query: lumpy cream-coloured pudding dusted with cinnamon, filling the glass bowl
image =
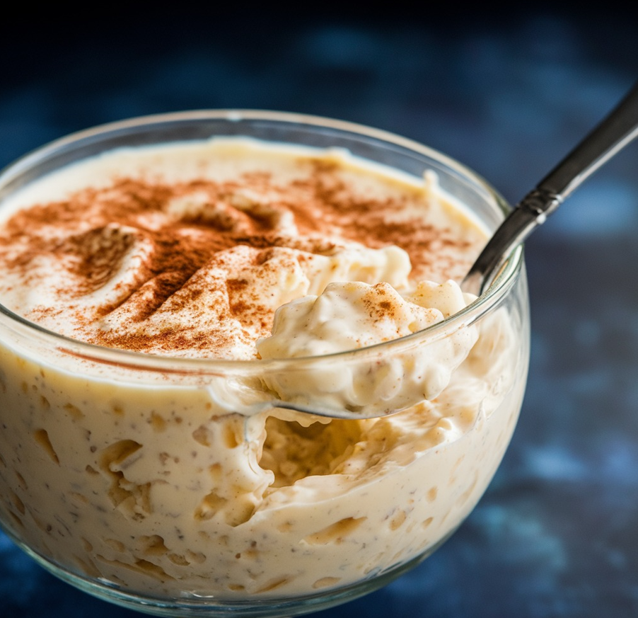
<path fill-rule="evenodd" d="M 216 139 L 105 154 L 0 212 L 0 302 L 16 314 L 108 348 L 265 366 L 229 396 L 223 374 L 3 333 L 1 518 L 64 570 L 155 597 L 309 595 L 424 554 L 485 491 L 527 367 L 505 309 L 427 345 L 267 369 L 470 301 L 451 280 L 485 231 L 433 175 Z M 401 411 L 330 420 L 253 399 Z"/>

